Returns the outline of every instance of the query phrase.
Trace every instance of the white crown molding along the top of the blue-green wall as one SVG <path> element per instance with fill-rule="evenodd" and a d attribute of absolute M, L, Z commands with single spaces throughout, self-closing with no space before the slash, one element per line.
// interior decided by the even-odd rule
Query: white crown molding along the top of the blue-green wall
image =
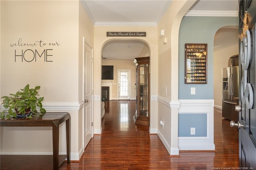
<path fill-rule="evenodd" d="M 188 11 L 185 16 L 232 16 L 238 17 L 238 11 Z"/>

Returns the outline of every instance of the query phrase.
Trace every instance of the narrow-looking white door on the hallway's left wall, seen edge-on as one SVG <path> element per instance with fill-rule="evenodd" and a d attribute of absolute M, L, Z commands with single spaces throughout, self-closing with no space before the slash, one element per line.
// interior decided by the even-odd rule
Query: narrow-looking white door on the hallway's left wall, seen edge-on
<path fill-rule="evenodd" d="M 92 48 L 84 41 L 84 148 L 92 138 Z"/>

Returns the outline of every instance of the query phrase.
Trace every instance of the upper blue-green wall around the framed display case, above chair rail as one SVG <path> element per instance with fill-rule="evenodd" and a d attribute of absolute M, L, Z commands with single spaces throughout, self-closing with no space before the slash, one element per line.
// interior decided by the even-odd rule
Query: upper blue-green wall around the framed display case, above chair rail
<path fill-rule="evenodd" d="M 179 99 L 213 99 L 214 36 L 224 26 L 238 26 L 238 17 L 185 16 L 179 32 Z M 207 43 L 207 84 L 185 84 L 185 43 Z M 196 87 L 196 94 L 190 88 Z M 195 120 L 195 119 L 194 119 Z"/>

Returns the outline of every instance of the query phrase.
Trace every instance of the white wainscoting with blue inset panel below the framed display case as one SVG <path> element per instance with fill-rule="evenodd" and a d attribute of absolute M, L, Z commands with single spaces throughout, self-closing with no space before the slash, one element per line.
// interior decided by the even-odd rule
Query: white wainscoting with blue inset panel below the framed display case
<path fill-rule="evenodd" d="M 179 101 L 179 150 L 215 150 L 214 100 Z"/>

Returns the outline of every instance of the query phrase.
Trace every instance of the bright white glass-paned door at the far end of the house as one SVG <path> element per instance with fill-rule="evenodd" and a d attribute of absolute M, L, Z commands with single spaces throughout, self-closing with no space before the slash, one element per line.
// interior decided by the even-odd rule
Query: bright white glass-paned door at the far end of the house
<path fill-rule="evenodd" d="M 118 100 L 130 100 L 130 70 L 118 70 Z"/>

